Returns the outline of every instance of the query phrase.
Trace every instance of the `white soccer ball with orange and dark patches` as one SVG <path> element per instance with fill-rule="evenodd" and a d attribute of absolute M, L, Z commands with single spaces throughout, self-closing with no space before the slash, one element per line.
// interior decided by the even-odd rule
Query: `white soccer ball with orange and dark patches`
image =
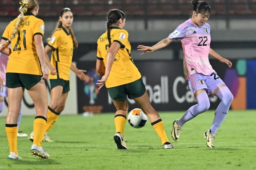
<path fill-rule="evenodd" d="M 133 128 L 142 128 L 147 122 L 147 116 L 141 109 L 133 109 L 128 114 L 128 123 Z"/>

